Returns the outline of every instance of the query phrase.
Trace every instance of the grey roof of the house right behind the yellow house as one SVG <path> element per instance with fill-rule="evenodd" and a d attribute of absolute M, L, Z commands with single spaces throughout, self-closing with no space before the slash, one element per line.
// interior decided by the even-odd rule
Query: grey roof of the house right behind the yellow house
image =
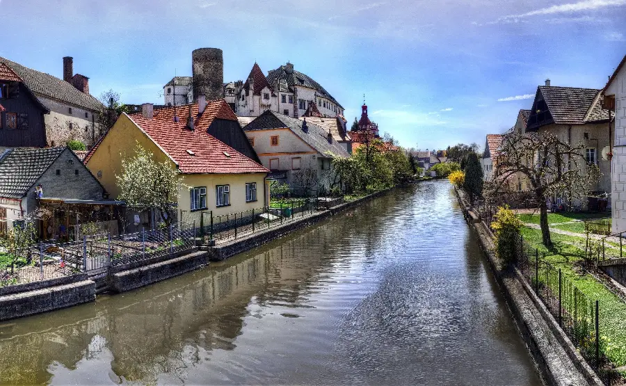
<path fill-rule="evenodd" d="M 291 118 L 287 115 L 275 113 L 271 110 L 262 113 L 255 120 L 250 122 L 244 131 L 252 130 L 267 130 L 286 127 L 305 141 L 308 145 L 313 147 L 317 152 L 326 155 L 326 152 L 331 152 L 336 156 L 350 156 L 346 150 L 339 145 L 337 140 L 332 139 L 332 143 L 328 143 L 328 132 L 317 126 L 316 124 L 307 122 L 308 132 L 302 130 L 303 121 L 298 118 Z"/>

